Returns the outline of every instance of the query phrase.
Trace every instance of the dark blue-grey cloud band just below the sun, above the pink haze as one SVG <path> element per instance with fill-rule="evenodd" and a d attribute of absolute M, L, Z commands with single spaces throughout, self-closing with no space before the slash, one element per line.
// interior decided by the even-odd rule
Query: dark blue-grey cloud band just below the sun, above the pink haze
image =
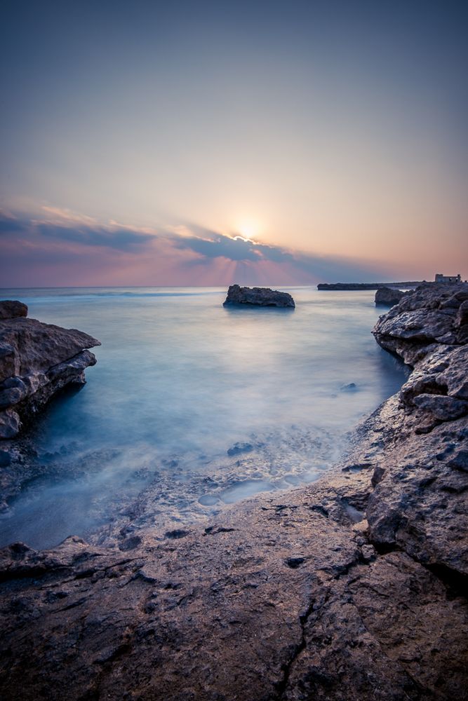
<path fill-rule="evenodd" d="M 29 217 L 10 217 L 0 213 L 0 247 L 13 246 L 17 259 L 22 259 L 25 268 L 41 264 L 49 259 L 51 264 L 67 266 L 76 264 L 81 257 L 100 248 L 109 254 L 128 254 L 131 257 L 170 256 L 171 251 L 187 252 L 187 259 L 180 266 L 200 264 L 210 266 L 215 259 L 224 259 L 233 264 L 247 264 L 255 277 L 255 264 L 274 264 L 288 268 L 295 281 L 314 283 L 320 280 L 369 280 L 382 275 L 378 266 L 366 266 L 358 261 L 337 257 L 320 257 L 301 252 L 290 252 L 279 246 L 269 246 L 246 240 L 240 236 L 187 226 L 192 236 L 180 236 L 169 230 L 142 233 L 131 227 L 100 226 L 98 224 L 57 224 L 38 222 Z M 31 243 L 34 243 L 32 250 Z M 50 252 L 51 243 L 53 252 Z M 8 246 L 7 246 L 8 244 Z M 62 246 L 60 246 L 62 244 Z M 70 248 L 72 245 L 72 248 Z M 6 261 L 6 257 L 2 257 Z M 18 260 L 17 260 L 18 263 Z M 25 270 L 25 272 L 27 272 Z M 182 272 L 182 271 L 181 271 Z M 229 283 L 231 280 L 226 280 Z M 187 280 L 189 284 L 191 280 Z M 255 283 L 255 280 L 253 280 Z M 274 282 L 274 281 L 272 281 Z"/>

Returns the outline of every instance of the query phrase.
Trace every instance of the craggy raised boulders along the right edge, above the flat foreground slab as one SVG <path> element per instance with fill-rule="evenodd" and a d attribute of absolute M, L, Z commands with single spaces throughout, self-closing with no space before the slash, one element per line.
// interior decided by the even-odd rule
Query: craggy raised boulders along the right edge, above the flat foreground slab
<path fill-rule="evenodd" d="M 465 451 L 454 452 L 468 437 L 468 346 L 457 332 L 467 297 L 463 283 L 421 286 L 373 330 L 414 370 L 399 393 L 392 458 L 369 499 L 370 538 L 455 578 L 468 575 Z"/>

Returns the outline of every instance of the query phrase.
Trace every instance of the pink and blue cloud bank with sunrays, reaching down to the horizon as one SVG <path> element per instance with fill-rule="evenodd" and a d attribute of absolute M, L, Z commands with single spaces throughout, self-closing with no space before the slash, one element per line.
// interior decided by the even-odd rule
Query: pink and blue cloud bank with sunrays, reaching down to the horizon
<path fill-rule="evenodd" d="M 388 277 L 380 266 L 290 251 L 196 224 L 141 229 L 99 224 L 58 207 L 44 211 L 44 219 L 0 212 L 4 286 L 307 285 Z"/>

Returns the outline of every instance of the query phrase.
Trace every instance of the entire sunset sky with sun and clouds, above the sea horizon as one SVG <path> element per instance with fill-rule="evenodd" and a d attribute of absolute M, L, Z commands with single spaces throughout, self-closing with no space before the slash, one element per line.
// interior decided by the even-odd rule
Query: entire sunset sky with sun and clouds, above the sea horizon
<path fill-rule="evenodd" d="M 468 5 L 6 0 L 0 287 L 468 276 Z"/>

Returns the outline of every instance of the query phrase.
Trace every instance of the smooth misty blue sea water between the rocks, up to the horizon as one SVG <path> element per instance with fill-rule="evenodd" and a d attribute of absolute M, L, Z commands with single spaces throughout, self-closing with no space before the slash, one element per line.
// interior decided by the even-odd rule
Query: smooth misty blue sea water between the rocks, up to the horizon
<path fill-rule="evenodd" d="M 2 290 L 102 346 L 29 430 L 34 470 L 0 544 L 176 528 L 319 477 L 405 370 L 370 334 L 374 292 L 288 291 L 295 310 L 223 308 L 221 288 Z"/>

